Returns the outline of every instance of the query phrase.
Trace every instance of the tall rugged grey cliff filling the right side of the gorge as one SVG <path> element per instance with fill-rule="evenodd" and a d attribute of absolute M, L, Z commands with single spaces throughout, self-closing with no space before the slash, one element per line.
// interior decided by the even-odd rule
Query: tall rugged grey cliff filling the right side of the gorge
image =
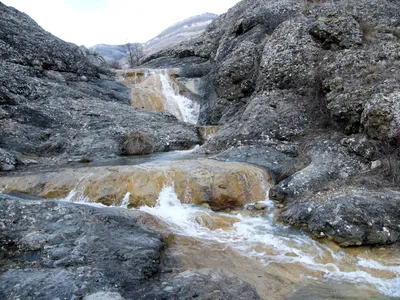
<path fill-rule="evenodd" d="M 286 207 L 285 222 L 345 245 L 389 242 L 399 224 L 387 212 L 372 222 L 383 235 L 372 239 L 377 229 L 351 216 L 359 209 L 372 219 L 370 199 L 385 211 L 389 200 L 368 193 L 400 184 L 399 20 L 391 0 L 244 0 L 145 65 L 201 80 L 201 122 L 224 125 L 203 150 L 233 147 L 224 159 L 268 160 L 267 168 L 276 151 L 303 161 L 270 193 Z M 342 211 L 346 197 L 352 208 L 334 220 L 319 214 Z M 398 196 L 389 198 L 398 210 Z M 316 225 L 314 209 L 325 223 Z"/>

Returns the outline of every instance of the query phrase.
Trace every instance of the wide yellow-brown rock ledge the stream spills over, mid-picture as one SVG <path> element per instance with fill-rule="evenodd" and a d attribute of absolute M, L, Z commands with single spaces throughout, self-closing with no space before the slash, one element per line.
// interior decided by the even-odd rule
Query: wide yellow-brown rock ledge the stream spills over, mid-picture
<path fill-rule="evenodd" d="M 202 159 L 0 178 L 0 190 L 6 192 L 64 198 L 74 191 L 73 198 L 105 205 L 120 205 L 129 192 L 131 207 L 154 206 L 166 185 L 174 186 L 182 203 L 207 203 L 220 210 L 264 200 L 269 176 L 256 166 Z"/>

